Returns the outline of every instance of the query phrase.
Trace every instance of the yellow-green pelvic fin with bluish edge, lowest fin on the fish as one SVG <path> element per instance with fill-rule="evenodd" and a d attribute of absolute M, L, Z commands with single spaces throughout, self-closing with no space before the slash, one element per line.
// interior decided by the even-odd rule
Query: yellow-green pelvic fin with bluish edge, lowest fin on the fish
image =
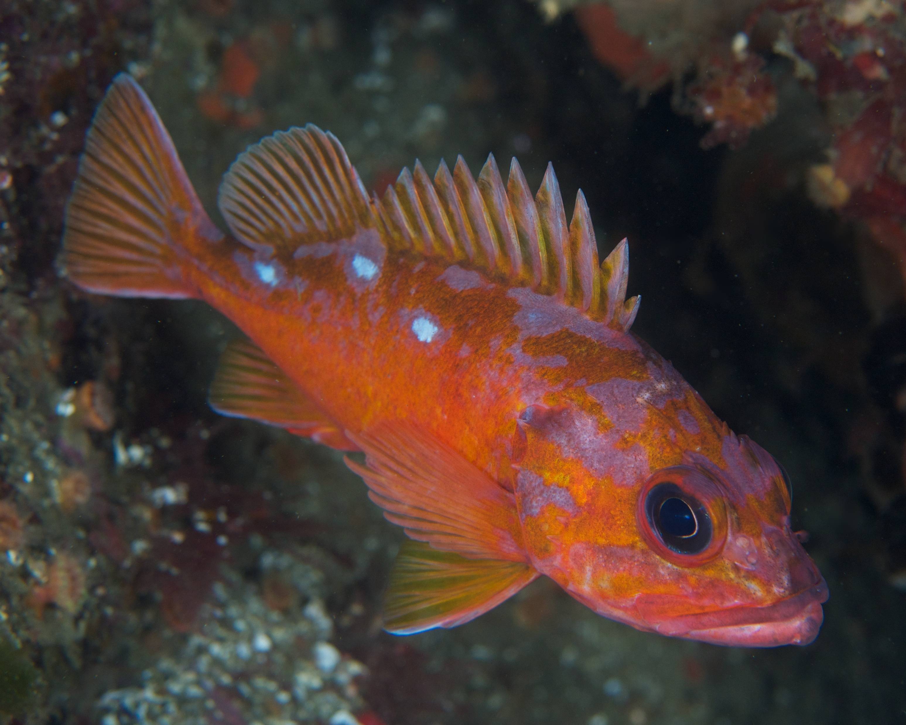
<path fill-rule="evenodd" d="M 538 576 L 526 564 L 467 559 L 405 541 L 384 598 L 384 629 L 391 634 L 415 634 L 465 624 Z"/>

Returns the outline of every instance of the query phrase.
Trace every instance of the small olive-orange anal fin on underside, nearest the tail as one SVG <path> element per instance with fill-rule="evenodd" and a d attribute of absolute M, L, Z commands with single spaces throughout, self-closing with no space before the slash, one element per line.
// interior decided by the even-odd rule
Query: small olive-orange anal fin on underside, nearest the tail
<path fill-rule="evenodd" d="M 248 340 L 234 340 L 226 345 L 208 400 L 223 415 L 285 428 L 331 448 L 358 450 L 333 420 Z"/>

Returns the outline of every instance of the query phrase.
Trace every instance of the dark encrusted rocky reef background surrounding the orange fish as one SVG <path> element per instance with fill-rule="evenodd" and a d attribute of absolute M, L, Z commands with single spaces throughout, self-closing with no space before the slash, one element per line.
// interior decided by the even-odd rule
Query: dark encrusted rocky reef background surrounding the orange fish
<path fill-rule="evenodd" d="M 0 7 L 0 722 L 901 721 L 902 4 L 567 5 Z M 533 186 L 552 160 L 602 253 L 630 238 L 634 330 L 793 478 L 818 640 L 637 633 L 544 581 L 381 633 L 399 534 L 333 451 L 208 410 L 230 324 L 57 274 L 120 71 L 212 212 L 236 153 L 309 121 L 377 190 L 415 158 L 515 154 Z"/>

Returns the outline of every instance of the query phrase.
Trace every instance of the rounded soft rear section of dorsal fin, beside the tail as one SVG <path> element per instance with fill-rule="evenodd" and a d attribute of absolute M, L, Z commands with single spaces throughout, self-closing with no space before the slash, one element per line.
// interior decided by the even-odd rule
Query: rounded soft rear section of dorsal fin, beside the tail
<path fill-rule="evenodd" d="M 217 205 L 233 234 L 255 248 L 295 251 L 376 224 L 340 141 L 311 123 L 248 147 L 226 172 Z"/>

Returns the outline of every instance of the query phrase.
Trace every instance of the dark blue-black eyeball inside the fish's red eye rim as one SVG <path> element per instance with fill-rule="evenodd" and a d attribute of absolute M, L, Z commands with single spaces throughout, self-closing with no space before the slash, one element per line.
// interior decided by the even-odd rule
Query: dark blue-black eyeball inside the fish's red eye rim
<path fill-rule="evenodd" d="M 645 513 L 660 540 L 677 554 L 699 554 L 711 543 L 708 509 L 675 483 L 652 487 Z"/>

